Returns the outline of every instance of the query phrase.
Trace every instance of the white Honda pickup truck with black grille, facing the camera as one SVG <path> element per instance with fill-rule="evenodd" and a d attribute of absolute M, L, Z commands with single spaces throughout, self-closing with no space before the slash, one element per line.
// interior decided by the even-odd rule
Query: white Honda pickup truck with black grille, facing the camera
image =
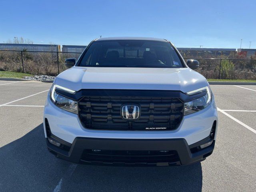
<path fill-rule="evenodd" d="M 54 80 L 48 150 L 86 164 L 169 166 L 214 150 L 218 114 L 199 62 L 157 38 L 99 38 Z"/>

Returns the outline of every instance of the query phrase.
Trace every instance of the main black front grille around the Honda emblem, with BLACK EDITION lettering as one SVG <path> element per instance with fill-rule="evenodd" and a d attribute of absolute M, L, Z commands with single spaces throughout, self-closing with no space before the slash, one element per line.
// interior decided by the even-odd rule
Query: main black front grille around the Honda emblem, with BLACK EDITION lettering
<path fill-rule="evenodd" d="M 139 105 L 138 120 L 124 120 L 121 106 Z M 183 103 L 168 97 L 85 96 L 79 101 L 79 118 L 85 128 L 98 130 L 174 130 L 183 117 Z"/>

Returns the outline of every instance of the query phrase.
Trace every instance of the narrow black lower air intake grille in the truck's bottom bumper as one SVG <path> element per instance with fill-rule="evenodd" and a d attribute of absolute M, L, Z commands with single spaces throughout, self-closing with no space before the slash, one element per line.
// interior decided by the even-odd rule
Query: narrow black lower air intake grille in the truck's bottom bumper
<path fill-rule="evenodd" d="M 81 160 L 88 163 L 125 163 L 157 164 L 176 163 L 179 156 L 176 151 L 121 151 L 121 150 L 84 150 Z"/>

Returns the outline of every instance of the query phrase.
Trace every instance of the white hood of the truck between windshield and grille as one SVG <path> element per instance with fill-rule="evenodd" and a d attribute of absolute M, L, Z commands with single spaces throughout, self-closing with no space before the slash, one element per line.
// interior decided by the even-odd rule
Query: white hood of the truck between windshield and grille
<path fill-rule="evenodd" d="M 180 90 L 189 92 L 207 86 L 207 81 L 190 68 L 72 67 L 55 84 L 80 89 Z"/>

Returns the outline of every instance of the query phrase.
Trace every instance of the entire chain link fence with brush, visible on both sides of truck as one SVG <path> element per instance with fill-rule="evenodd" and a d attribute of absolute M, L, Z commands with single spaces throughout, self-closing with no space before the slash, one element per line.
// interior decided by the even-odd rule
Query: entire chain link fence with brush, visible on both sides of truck
<path fill-rule="evenodd" d="M 80 56 L 78 52 L 34 52 L 0 50 L 0 70 L 34 75 L 55 76 L 66 70 L 65 59 Z M 256 80 L 256 60 L 230 58 L 184 58 L 200 62 L 197 70 L 208 79 Z"/>

